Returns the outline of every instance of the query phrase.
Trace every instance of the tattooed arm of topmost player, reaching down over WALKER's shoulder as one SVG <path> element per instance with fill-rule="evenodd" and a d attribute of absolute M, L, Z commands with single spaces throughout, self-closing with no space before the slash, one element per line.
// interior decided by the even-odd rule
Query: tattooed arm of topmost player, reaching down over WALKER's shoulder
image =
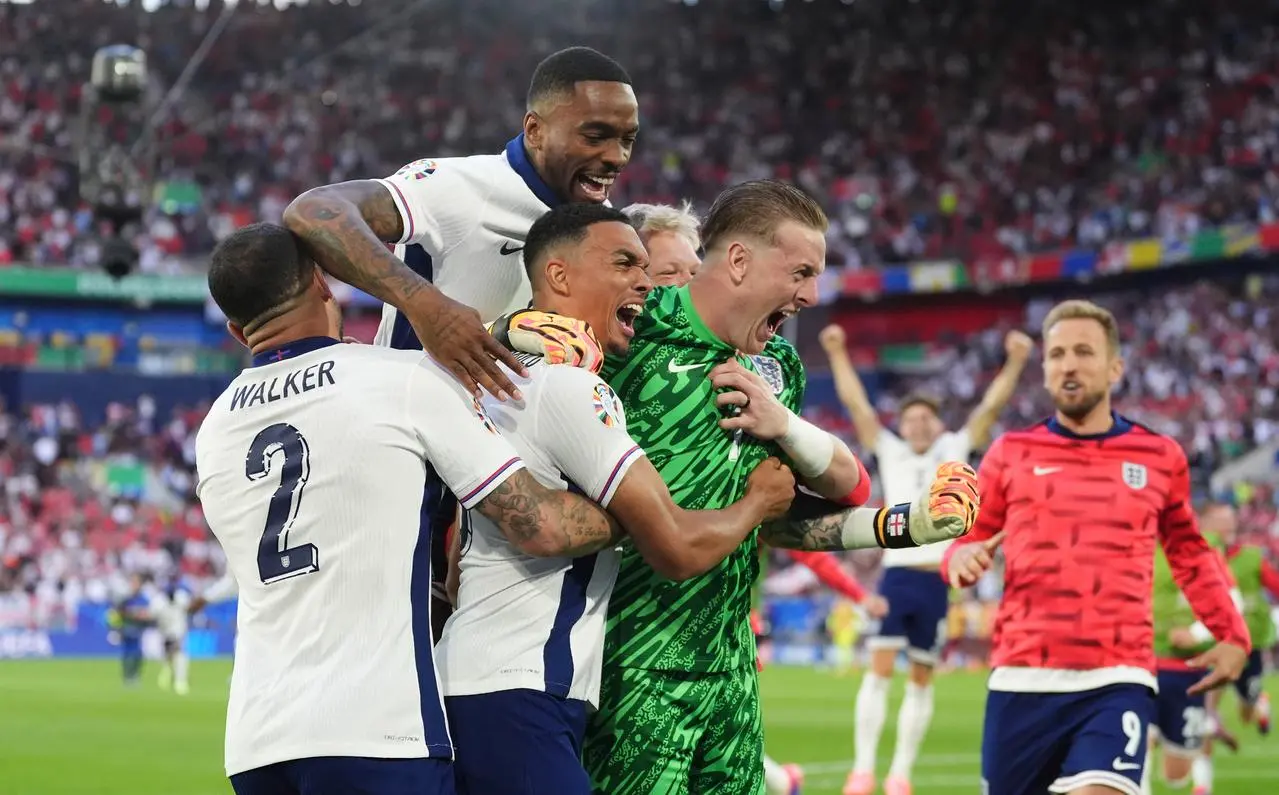
<path fill-rule="evenodd" d="M 284 225 L 325 272 L 403 312 L 422 348 L 468 390 L 478 385 L 498 398 L 518 398 L 496 360 L 518 373 L 523 364 L 489 335 L 480 314 L 445 297 L 386 247 L 417 234 L 405 235 L 391 190 L 377 180 L 312 188 L 289 203 Z"/>

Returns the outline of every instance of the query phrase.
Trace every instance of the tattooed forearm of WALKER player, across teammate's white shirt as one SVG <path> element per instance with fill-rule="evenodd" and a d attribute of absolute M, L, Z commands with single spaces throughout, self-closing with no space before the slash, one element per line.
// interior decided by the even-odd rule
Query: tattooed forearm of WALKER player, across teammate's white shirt
<path fill-rule="evenodd" d="M 476 509 L 517 550 L 533 557 L 578 557 L 608 548 L 622 530 L 595 502 L 553 491 L 521 470 L 489 492 Z"/>

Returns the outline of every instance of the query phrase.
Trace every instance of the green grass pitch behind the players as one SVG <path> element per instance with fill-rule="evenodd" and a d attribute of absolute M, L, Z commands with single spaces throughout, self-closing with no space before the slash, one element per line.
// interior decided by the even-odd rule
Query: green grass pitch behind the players
<path fill-rule="evenodd" d="M 192 666 L 192 694 L 155 685 L 127 690 L 113 661 L 0 663 L 0 792 L 3 795 L 226 795 L 223 720 L 228 661 Z M 932 730 L 916 769 L 917 795 L 976 792 L 984 677 L 948 674 L 938 681 Z M 806 795 L 838 795 L 852 758 L 857 676 L 808 668 L 764 672 L 767 750 L 798 762 Z M 894 688 L 900 697 L 900 683 Z M 1275 693 L 1274 681 L 1270 683 Z M 1234 697 L 1227 697 L 1227 714 Z M 881 775 L 891 726 L 880 746 Z M 1218 759 L 1216 795 L 1279 792 L 1279 736 L 1243 730 L 1238 755 Z M 1165 794 L 1166 790 L 1156 789 Z M 1183 791 L 1188 792 L 1188 790 Z"/>

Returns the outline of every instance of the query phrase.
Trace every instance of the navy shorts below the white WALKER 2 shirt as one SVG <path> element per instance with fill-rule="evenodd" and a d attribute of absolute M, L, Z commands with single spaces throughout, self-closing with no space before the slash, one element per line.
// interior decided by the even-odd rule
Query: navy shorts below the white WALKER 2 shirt
<path fill-rule="evenodd" d="M 235 795 L 455 795 L 449 759 L 315 757 L 231 776 Z"/>

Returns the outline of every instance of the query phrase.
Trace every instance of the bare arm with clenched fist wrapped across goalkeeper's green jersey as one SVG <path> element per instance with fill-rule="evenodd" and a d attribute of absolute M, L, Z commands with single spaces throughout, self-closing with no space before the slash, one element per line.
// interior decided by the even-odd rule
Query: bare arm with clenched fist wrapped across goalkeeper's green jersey
<path fill-rule="evenodd" d="M 680 582 L 714 569 L 765 519 L 785 514 L 794 478 L 778 459 L 751 473 L 746 496 L 721 510 L 689 511 L 675 505 L 647 458 L 638 459 L 618 486 L 609 513 L 654 571 Z"/>

